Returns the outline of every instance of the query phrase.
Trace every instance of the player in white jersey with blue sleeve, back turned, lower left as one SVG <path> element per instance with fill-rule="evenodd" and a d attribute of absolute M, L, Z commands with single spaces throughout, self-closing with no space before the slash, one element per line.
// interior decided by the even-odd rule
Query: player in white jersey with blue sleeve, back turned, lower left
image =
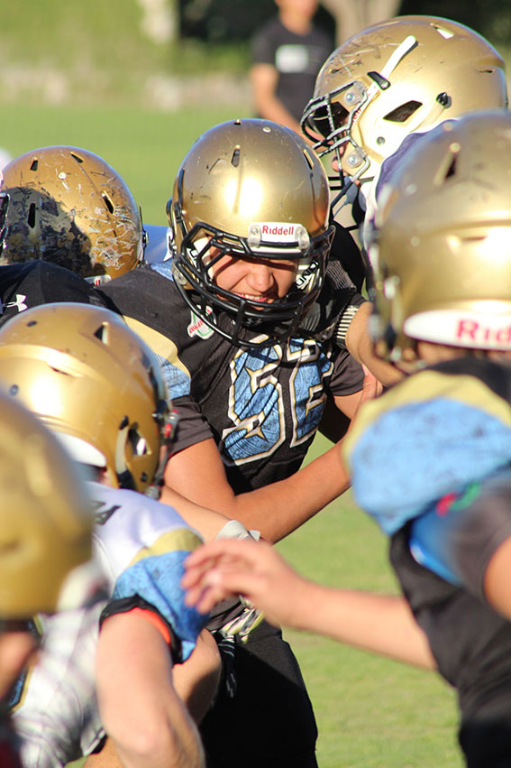
<path fill-rule="evenodd" d="M 95 546 L 111 594 L 106 606 L 43 621 L 41 660 L 12 702 L 24 764 L 65 765 L 106 731 L 123 764 L 202 765 L 178 692 L 200 719 L 218 653 L 203 634 L 190 662 L 174 667 L 205 621 L 184 606 L 178 583 L 200 538 L 143 495 L 158 495 L 173 430 L 156 359 L 110 311 L 47 304 L 2 328 L 0 382 L 92 467 Z"/>

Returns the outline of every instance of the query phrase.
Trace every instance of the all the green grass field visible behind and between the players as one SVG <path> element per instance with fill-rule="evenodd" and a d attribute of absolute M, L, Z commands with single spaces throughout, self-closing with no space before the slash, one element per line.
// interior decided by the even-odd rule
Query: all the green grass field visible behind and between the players
<path fill-rule="evenodd" d="M 54 143 L 101 154 L 123 174 L 143 217 L 165 224 L 178 163 L 198 134 L 242 116 L 136 108 L 6 105 L 0 145 L 19 154 Z M 318 438 L 312 453 L 327 447 Z M 308 577 L 329 585 L 395 590 L 386 542 L 346 495 L 279 545 Z M 460 768 L 452 691 L 435 675 L 311 634 L 287 632 L 301 662 L 319 725 L 321 768 Z"/>

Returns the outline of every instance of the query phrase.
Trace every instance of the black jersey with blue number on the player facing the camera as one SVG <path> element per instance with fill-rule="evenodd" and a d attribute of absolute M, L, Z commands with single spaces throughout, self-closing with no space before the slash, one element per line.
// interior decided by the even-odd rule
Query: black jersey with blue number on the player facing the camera
<path fill-rule="evenodd" d="M 196 317 L 168 276 L 147 266 L 99 290 L 160 356 L 179 413 L 175 450 L 213 437 L 235 493 L 296 472 L 326 393 L 361 389 L 360 365 L 306 331 L 287 344 L 234 347 Z"/>

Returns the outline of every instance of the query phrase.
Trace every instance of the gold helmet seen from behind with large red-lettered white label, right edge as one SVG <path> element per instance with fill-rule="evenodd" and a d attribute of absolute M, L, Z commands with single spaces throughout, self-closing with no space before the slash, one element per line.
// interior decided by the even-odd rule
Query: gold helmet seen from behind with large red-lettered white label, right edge
<path fill-rule="evenodd" d="M 379 352 L 412 339 L 511 349 L 511 115 L 472 113 L 415 145 L 370 246 Z"/>

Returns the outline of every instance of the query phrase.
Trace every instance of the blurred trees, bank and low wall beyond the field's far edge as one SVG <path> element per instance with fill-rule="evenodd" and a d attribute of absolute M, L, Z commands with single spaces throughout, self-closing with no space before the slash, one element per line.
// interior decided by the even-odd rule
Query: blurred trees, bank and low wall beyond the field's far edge
<path fill-rule="evenodd" d="M 250 111 L 249 42 L 275 13 L 273 0 L 4 0 L 0 96 Z M 511 48 L 511 0 L 324 0 L 316 22 L 340 44 L 397 14 L 447 16 Z"/>

